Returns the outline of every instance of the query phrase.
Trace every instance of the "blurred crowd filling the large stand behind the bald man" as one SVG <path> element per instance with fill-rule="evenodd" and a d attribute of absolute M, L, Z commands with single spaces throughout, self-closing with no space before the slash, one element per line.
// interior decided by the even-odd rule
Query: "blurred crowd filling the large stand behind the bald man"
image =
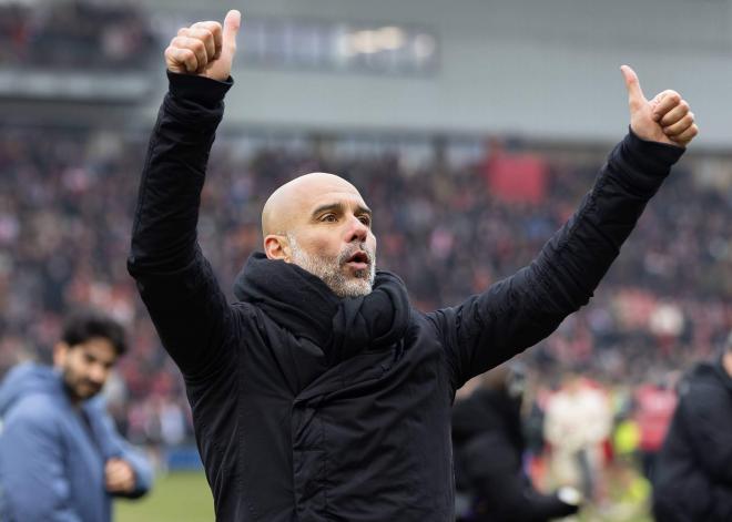
<path fill-rule="evenodd" d="M 191 441 L 190 413 L 179 372 L 125 268 L 145 134 L 0 132 L 0 375 L 24 358 L 48 359 L 63 314 L 99 306 L 131 336 L 108 389 L 111 410 L 131 440 L 165 447 Z M 224 133 L 215 145 L 199 227 L 226 291 L 260 248 L 268 194 L 298 174 L 326 171 L 360 188 L 374 211 L 378 265 L 399 274 L 425 310 L 457 304 L 529 263 L 571 215 L 602 161 L 599 154 L 521 151 L 542 165 L 546 178 L 539 197 L 520 201 L 491 184 L 492 147 L 475 161 L 436 153 L 415 163 L 398 152 L 344 155 L 316 146 L 243 152 L 244 140 Z M 623 427 L 627 446 L 628 437 L 640 437 L 638 426 L 621 426 L 642 402 L 640 387 L 668 388 L 675 370 L 711 356 L 725 339 L 732 328 L 732 171 L 710 162 L 679 165 L 591 305 L 523 357 L 535 390 L 528 410 L 541 419 L 535 419 L 530 447 L 567 442 L 562 426 L 577 419 L 558 414 L 549 398 L 576 389 L 567 383 L 576 373 L 610 398 L 608 418 L 594 423 L 603 432 L 588 436 L 592 443 Z M 545 416 L 552 419 L 546 430 Z M 628 451 L 636 450 L 642 448 Z"/>

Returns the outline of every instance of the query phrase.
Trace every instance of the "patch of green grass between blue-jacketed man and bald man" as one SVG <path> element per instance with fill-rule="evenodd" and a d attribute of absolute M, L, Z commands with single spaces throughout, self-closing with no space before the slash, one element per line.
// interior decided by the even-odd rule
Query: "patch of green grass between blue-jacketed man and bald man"
<path fill-rule="evenodd" d="M 152 491 L 136 501 L 119 500 L 115 522 L 212 522 L 213 498 L 203 473 L 157 477 Z"/>

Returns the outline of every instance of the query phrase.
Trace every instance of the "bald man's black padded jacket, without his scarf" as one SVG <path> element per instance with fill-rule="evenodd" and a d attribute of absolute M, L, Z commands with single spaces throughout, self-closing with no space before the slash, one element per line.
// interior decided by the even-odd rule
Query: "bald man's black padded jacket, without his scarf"
<path fill-rule="evenodd" d="M 327 324 L 288 330 L 286 314 L 227 304 L 196 244 L 230 86 L 171 74 L 128 264 L 185 378 L 217 520 L 450 520 L 455 390 L 588 303 L 681 150 L 629 135 L 529 267 L 455 308 L 407 310 L 387 349 L 324 361 Z"/>

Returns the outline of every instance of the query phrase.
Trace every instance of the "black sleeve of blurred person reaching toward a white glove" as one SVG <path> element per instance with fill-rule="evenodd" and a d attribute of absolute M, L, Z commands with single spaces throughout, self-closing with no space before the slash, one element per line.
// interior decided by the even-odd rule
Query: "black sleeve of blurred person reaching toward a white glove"
<path fill-rule="evenodd" d="M 535 490 L 519 459 L 500 433 L 480 436 L 466 447 L 466 474 L 487 520 L 542 522 L 577 512 L 556 494 Z"/>

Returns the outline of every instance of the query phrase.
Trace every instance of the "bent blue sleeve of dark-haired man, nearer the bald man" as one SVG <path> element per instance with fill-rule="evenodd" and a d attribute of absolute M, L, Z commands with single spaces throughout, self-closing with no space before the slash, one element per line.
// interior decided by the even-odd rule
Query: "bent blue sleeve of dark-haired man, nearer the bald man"
<path fill-rule="evenodd" d="M 125 497 L 128 499 L 138 499 L 152 488 L 153 469 L 150 460 L 139 450 L 133 448 L 116 430 L 114 421 L 105 410 L 103 401 L 93 405 L 93 414 L 96 417 L 95 430 L 99 437 L 99 443 L 106 460 L 119 458 L 126 461 L 134 470 L 135 484 L 134 490 L 126 494 L 115 497 Z"/>

